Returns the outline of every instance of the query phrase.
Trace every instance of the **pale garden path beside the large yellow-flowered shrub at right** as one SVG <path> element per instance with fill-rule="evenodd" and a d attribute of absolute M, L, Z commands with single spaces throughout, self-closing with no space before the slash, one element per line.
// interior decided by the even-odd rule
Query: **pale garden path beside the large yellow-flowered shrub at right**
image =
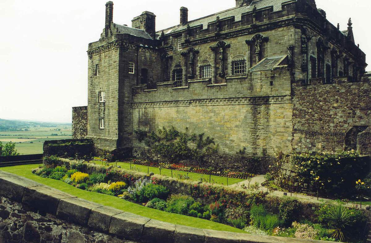
<path fill-rule="evenodd" d="M 268 192 L 268 189 L 264 186 L 262 186 L 262 183 L 265 182 L 265 178 L 264 178 L 264 175 L 257 175 L 255 177 L 252 178 L 251 182 L 250 182 L 250 185 L 254 184 L 255 182 L 259 183 L 259 186 L 260 186 L 260 190 L 263 191 L 263 192 Z M 232 184 L 230 185 L 230 187 L 240 187 L 242 186 L 242 184 L 244 184 L 245 186 L 247 186 L 249 184 L 249 181 L 248 180 L 244 180 L 242 182 L 239 182 L 239 183 L 235 183 L 235 184 Z M 281 191 L 274 191 L 274 192 L 270 192 L 269 194 L 271 195 L 275 195 L 275 196 L 278 196 L 278 197 L 284 197 L 285 192 L 281 192 Z M 287 196 L 290 196 L 291 193 L 287 192 Z M 292 193 L 292 197 L 296 197 L 298 199 L 304 199 L 304 200 L 309 200 L 313 203 L 316 203 L 319 201 L 322 201 L 322 202 L 334 202 L 335 200 L 332 200 L 332 199 L 326 199 L 326 198 L 322 198 L 322 197 L 319 197 L 318 200 L 317 200 L 317 197 L 316 196 L 308 196 L 308 195 L 302 195 L 302 194 L 297 194 L 297 193 Z M 355 203 L 346 203 L 345 206 L 347 207 L 359 207 L 358 204 L 355 204 Z M 362 205 L 362 208 L 364 206 Z"/>

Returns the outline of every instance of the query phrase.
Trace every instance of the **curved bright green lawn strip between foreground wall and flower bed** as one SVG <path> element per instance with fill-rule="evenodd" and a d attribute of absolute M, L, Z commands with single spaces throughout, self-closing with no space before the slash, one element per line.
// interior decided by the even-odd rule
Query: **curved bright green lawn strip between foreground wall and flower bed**
<path fill-rule="evenodd" d="M 80 197 L 82 199 L 100 203 L 106 206 L 115 207 L 116 209 L 123 210 L 125 212 L 134 213 L 140 216 L 149 217 L 151 219 L 157 219 L 157 220 L 161 220 L 161 221 L 168 222 L 168 223 L 181 224 L 181 225 L 197 227 L 201 229 L 213 229 L 213 230 L 223 230 L 223 231 L 229 231 L 229 232 L 246 233 L 243 230 L 230 227 L 224 224 L 212 222 L 210 220 L 198 219 L 195 217 L 185 216 L 181 214 L 167 213 L 164 211 L 151 209 L 149 207 L 144 207 L 136 203 L 128 202 L 126 200 L 120 199 L 115 196 L 109 196 L 106 194 L 95 193 L 95 192 L 88 192 L 85 190 L 77 189 L 76 187 L 73 187 L 60 180 L 43 178 L 35 174 L 32 174 L 31 169 L 37 166 L 40 166 L 40 165 L 42 164 L 10 166 L 10 167 L 2 167 L 0 168 L 0 170 L 26 177 L 28 179 L 34 180 L 36 182 L 45 184 L 50 187 L 54 187 L 58 190 L 69 193 L 73 196 Z"/>

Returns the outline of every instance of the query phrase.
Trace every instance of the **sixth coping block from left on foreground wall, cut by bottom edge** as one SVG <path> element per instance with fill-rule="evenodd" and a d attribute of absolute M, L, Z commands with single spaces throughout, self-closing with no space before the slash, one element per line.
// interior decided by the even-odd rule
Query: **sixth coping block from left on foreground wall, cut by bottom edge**
<path fill-rule="evenodd" d="M 175 224 L 151 219 L 144 225 L 142 242 L 174 242 Z"/>

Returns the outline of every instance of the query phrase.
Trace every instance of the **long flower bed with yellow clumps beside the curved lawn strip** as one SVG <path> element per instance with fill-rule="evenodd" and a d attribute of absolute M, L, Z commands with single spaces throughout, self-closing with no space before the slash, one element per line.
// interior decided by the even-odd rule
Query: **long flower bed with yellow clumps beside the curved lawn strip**
<path fill-rule="evenodd" d="M 341 205 L 304 203 L 288 197 L 267 196 L 267 193 L 259 191 L 149 176 L 82 161 L 62 159 L 53 162 L 56 164 L 34 169 L 33 173 L 50 178 L 55 175 L 55 179 L 62 175 L 61 180 L 80 189 L 115 195 L 158 210 L 245 228 L 247 232 L 304 239 L 341 239 L 331 233 L 336 229 L 336 225 L 331 223 L 336 221 L 334 209 Z M 362 239 L 365 223 L 362 211 L 345 207 L 342 210 L 350 215 L 343 219 L 343 240 L 354 242 Z M 352 234 L 347 234 L 347 230 L 351 230 Z"/>

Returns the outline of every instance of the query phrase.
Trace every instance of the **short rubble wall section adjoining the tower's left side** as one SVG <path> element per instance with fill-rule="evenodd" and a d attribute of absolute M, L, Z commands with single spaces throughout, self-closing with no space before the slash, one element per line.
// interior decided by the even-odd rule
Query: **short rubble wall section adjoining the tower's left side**
<path fill-rule="evenodd" d="M 72 138 L 85 139 L 88 134 L 88 107 L 72 107 Z"/>

